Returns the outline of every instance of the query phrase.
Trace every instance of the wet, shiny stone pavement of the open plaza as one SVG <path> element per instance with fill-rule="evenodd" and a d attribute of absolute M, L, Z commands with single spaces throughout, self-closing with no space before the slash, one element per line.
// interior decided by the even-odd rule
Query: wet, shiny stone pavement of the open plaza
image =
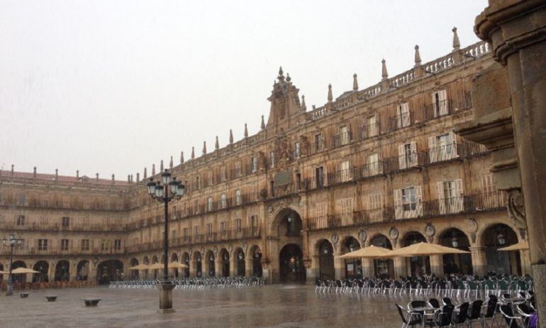
<path fill-rule="evenodd" d="M 46 302 L 45 295 L 57 295 Z M 84 307 L 84 297 L 99 297 Z M 108 288 L 0 295 L 0 327 L 399 327 L 395 302 L 383 295 L 316 295 L 311 285 L 174 290 L 173 314 L 156 313 L 157 290 Z"/>

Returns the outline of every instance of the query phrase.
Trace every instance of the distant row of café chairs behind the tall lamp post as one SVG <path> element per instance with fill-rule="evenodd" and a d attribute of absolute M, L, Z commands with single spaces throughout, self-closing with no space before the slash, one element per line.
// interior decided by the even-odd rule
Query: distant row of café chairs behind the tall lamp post
<path fill-rule="evenodd" d="M 265 278 L 258 277 L 224 277 L 224 278 L 181 278 L 171 280 L 175 290 L 210 288 L 243 288 L 264 285 Z M 152 289 L 160 280 L 120 280 L 112 281 L 108 288 Z"/>

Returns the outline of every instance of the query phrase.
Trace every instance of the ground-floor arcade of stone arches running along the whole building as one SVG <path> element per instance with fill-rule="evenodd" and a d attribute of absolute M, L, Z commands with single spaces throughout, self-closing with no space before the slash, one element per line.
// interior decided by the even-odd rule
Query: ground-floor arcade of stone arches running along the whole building
<path fill-rule="evenodd" d="M 174 278 L 266 276 L 272 283 L 303 283 L 315 278 L 397 278 L 401 275 L 431 273 L 438 276 L 451 273 L 485 275 L 490 271 L 514 275 L 529 273 L 528 251 L 497 251 L 498 248 L 523 241 L 524 234 L 521 231 L 516 233 L 517 229 L 508 220 L 490 222 L 474 234 L 450 222 L 443 229 L 436 228 L 438 232 L 434 231 L 431 236 L 429 225 L 416 221 L 398 226 L 374 226 L 376 231 L 364 231 L 362 228 L 348 231 L 345 228 L 347 231 L 310 233 L 303 230 L 299 212 L 286 208 L 275 215 L 269 226 L 269 236 L 272 238 L 266 239 L 264 243 L 240 242 L 237 245 L 171 250 L 169 261 L 184 263 L 187 268 L 169 269 L 169 275 Z M 442 226 L 442 222 L 435 225 Z M 397 249 L 420 241 L 459 248 L 470 253 L 381 260 L 336 258 L 364 246 Z M 14 258 L 13 268 L 33 268 L 39 272 L 16 275 L 14 279 L 21 283 L 94 280 L 100 284 L 111 280 L 160 278 L 162 270 L 127 269 L 138 264 L 162 263 L 159 254 L 132 256 L 125 263 L 119 259 L 25 261 Z M 9 264 L 0 263 L 0 270 L 8 268 Z"/>

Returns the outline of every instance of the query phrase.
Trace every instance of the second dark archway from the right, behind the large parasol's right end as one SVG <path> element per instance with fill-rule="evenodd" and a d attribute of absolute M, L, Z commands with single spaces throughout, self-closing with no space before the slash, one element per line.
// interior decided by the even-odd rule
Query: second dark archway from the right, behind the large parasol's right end
<path fill-rule="evenodd" d="M 464 232 L 459 229 L 447 229 L 440 236 L 440 244 L 442 246 L 457 248 L 462 251 L 470 251 L 470 241 Z M 464 275 L 472 275 L 472 256 L 467 254 L 445 254 L 442 256 L 444 263 L 444 274 L 450 275 L 462 273 Z"/>

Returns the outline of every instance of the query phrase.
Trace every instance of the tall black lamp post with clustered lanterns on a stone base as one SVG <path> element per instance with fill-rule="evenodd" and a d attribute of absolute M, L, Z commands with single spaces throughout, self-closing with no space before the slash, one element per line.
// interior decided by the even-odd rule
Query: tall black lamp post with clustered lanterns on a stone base
<path fill-rule="evenodd" d="M 163 184 L 161 184 L 163 182 Z M 165 231 L 164 231 L 164 244 L 163 244 L 163 277 L 160 285 L 160 308 L 158 313 L 172 313 L 172 288 L 174 285 L 169 280 L 169 202 L 173 199 L 180 199 L 184 195 L 184 185 L 177 181 L 176 177 L 171 178 L 169 170 L 165 170 L 161 173 L 161 181 L 154 182 L 150 178 L 150 182 L 147 183 L 148 195 L 157 202 L 162 202 L 165 212 Z"/>

